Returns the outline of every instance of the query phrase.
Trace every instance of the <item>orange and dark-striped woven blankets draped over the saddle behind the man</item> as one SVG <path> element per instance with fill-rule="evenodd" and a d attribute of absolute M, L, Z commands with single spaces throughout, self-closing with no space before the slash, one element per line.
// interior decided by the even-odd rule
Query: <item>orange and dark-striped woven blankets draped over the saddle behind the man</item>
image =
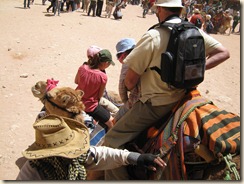
<path fill-rule="evenodd" d="M 148 173 L 149 179 L 185 180 L 185 153 L 194 151 L 199 144 L 206 146 L 216 157 L 219 153 L 238 154 L 240 117 L 218 108 L 202 97 L 198 90 L 193 90 L 171 114 L 143 132 L 130 146 L 133 151 L 141 153 L 159 153 L 167 162 L 164 170 L 156 174 Z"/>

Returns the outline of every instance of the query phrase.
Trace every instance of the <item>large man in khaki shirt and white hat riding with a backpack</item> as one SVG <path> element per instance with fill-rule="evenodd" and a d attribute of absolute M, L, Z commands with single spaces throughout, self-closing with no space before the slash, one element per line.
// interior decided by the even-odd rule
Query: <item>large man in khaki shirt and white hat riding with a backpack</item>
<path fill-rule="evenodd" d="M 159 23 L 181 22 L 181 0 L 158 0 L 154 6 Z M 229 51 L 221 43 L 203 30 L 199 31 L 205 40 L 206 70 L 230 57 Z M 166 51 L 169 37 L 170 30 L 157 24 L 142 36 L 125 58 L 124 63 L 129 67 L 124 80 L 125 86 L 131 90 L 140 80 L 141 97 L 105 135 L 106 146 L 123 148 L 127 142 L 162 119 L 185 95 L 186 90 L 170 88 L 155 70 L 150 69 L 153 66 L 161 68 L 161 54 Z M 128 178 L 125 167 L 105 171 L 106 180 Z"/>

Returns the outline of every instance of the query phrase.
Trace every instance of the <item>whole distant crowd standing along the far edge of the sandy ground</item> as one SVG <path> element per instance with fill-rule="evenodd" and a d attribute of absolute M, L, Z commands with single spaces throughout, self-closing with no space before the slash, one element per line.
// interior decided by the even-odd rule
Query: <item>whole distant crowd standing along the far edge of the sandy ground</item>
<path fill-rule="evenodd" d="M 42 0 L 42 4 L 45 5 L 47 0 Z M 146 15 L 151 10 L 151 14 L 155 13 L 154 3 L 155 0 L 48 0 L 50 5 L 48 6 L 47 13 L 52 11 L 54 16 L 57 14 L 60 16 L 61 12 L 73 12 L 76 10 L 83 10 L 88 16 L 110 18 L 113 15 L 114 19 L 121 19 L 123 14 L 121 9 L 126 8 L 127 4 L 139 5 L 142 7 L 142 17 L 146 18 Z M 24 8 L 30 8 L 30 4 L 33 4 L 34 0 L 24 0 Z M 218 32 L 220 22 L 214 19 L 214 13 L 223 12 L 224 16 L 230 16 L 232 20 L 231 33 L 240 33 L 239 30 L 235 31 L 235 28 L 240 24 L 240 11 L 234 10 L 232 7 L 224 6 L 222 0 L 217 3 L 209 3 L 209 1 L 199 0 L 187 0 L 182 3 L 183 9 L 181 12 L 181 18 L 192 22 L 197 27 L 203 29 L 208 34 Z M 102 15 L 105 7 L 105 14 Z M 200 8 L 200 9 L 199 9 Z M 215 25 L 215 22 L 216 25 Z M 215 30 L 215 31 L 214 31 Z"/>

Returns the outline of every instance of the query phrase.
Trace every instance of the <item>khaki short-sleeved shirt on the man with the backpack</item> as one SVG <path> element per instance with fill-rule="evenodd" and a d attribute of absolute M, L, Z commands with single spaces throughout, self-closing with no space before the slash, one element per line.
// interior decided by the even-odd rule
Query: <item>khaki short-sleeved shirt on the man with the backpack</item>
<path fill-rule="evenodd" d="M 170 20 L 177 23 L 180 19 Z M 206 55 L 220 43 L 200 30 L 205 40 Z M 160 75 L 150 67 L 160 68 L 161 54 L 166 51 L 170 30 L 156 28 L 147 31 L 137 43 L 136 47 L 124 60 L 134 72 L 141 75 L 141 102 L 150 101 L 153 106 L 167 105 L 177 102 L 185 94 L 184 89 L 169 88 Z"/>

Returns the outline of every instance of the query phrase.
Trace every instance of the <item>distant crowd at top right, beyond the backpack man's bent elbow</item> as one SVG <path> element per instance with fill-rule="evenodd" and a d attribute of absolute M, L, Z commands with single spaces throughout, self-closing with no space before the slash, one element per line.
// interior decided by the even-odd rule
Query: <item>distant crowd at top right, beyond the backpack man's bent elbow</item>
<path fill-rule="evenodd" d="M 232 33 L 235 33 L 235 27 L 240 24 L 240 2 L 238 6 L 234 6 L 224 0 L 187 0 L 183 3 L 183 6 L 181 17 L 190 20 L 207 33 L 217 33 L 221 26 L 225 26 L 221 25 L 224 19 L 229 19 L 230 24 L 232 21 L 232 25 L 230 28 L 228 27 L 232 30 Z M 240 27 L 237 33 L 240 33 Z"/>

